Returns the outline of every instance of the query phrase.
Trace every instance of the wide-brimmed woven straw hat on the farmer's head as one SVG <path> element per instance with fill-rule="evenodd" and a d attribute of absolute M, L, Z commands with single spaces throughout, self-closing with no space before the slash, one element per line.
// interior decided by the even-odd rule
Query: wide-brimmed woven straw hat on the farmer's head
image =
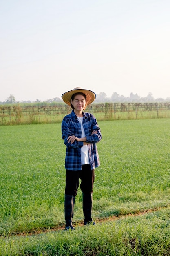
<path fill-rule="evenodd" d="M 77 92 L 82 92 L 86 95 L 87 105 L 91 104 L 96 98 L 96 94 L 94 92 L 92 92 L 90 90 L 82 89 L 81 87 L 76 87 L 73 90 L 65 92 L 65 93 L 62 94 L 63 101 L 66 104 L 70 105 L 72 95 L 77 93 Z"/>

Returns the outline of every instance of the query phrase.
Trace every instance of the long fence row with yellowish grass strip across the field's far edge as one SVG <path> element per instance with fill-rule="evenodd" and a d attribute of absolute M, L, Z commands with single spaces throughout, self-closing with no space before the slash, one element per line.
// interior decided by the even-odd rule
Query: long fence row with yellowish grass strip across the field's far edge
<path fill-rule="evenodd" d="M 170 103 L 103 103 L 87 106 L 97 120 L 126 120 L 170 117 Z M 0 125 L 61 122 L 71 112 L 65 104 L 49 106 L 0 105 Z"/>

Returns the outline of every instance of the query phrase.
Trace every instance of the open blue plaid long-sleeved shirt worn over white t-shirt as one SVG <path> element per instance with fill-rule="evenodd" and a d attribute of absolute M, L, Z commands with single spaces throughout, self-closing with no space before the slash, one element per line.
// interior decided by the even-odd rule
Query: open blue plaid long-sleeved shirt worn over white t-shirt
<path fill-rule="evenodd" d="M 83 112 L 83 117 L 83 127 L 87 138 L 86 142 L 90 142 L 87 146 L 91 170 L 93 170 L 100 165 L 96 143 L 102 139 L 102 135 L 97 120 L 91 113 Z M 97 130 L 97 134 L 91 135 L 93 130 Z M 80 151 L 83 142 L 75 140 L 72 144 L 68 143 L 67 138 L 71 135 L 75 135 L 77 138 L 81 138 L 82 135 L 81 124 L 79 123 L 74 110 L 63 118 L 62 139 L 64 139 L 64 144 L 66 145 L 65 168 L 67 170 L 77 171 L 82 169 Z"/>

